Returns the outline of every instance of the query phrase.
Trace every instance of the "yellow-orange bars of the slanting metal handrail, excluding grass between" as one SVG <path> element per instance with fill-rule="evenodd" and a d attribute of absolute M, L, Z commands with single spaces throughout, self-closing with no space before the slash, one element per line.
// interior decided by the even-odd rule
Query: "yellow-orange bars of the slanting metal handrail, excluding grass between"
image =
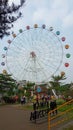
<path fill-rule="evenodd" d="M 53 120 L 53 119 L 55 119 L 56 117 L 59 117 L 59 116 L 61 116 L 61 115 L 64 115 L 65 113 L 67 113 L 67 112 L 73 110 L 73 108 L 70 108 L 70 109 L 67 109 L 67 110 L 65 110 L 65 111 L 63 111 L 63 112 L 61 112 L 61 113 L 58 113 L 58 114 L 55 115 L 54 117 L 51 117 L 51 113 L 54 112 L 55 110 L 58 110 L 59 108 L 62 108 L 62 107 L 64 107 L 64 106 L 68 105 L 68 104 L 71 103 L 71 102 L 73 102 L 73 99 L 70 100 L 70 101 L 68 101 L 68 102 L 66 102 L 66 103 L 63 103 L 62 105 L 58 106 L 58 107 L 55 108 L 54 110 L 49 111 L 49 113 L 48 113 L 48 130 L 51 130 L 51 127 L 53 127 L 53 126 L 56 126 L 57 124 L 60 124 L 61 122 L 65 121 L 65 120 L 68 120 L 68 118 L 65 116 L 65 118 L 61 119 L 61 121 L 58 120 L 56 123 L 52 123 L 52 125 L 51 125 L 51 120 Z"/>

